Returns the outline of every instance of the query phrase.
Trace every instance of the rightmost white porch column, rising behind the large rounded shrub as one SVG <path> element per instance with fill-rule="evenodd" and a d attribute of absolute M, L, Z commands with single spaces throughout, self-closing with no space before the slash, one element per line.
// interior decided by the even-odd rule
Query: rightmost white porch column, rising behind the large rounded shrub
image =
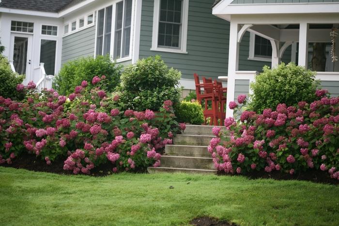
<path fill-rule="evenodd" d="M 300 23 L 298 65 L 307 68 L 308 64 L 308 23 Z"/>

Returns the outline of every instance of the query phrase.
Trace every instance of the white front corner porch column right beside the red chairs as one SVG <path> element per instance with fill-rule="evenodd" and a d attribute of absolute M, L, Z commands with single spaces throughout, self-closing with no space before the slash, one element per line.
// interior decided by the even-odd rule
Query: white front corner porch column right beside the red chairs
<path fill-rule="evenodd" d="M 228 65 L 228 81 L 227 81 L 227 108 L 226 117 L 233 117 L 233 110 L 229 108 L 231 101 L 234 101 L 235 89 L 235 71 L 239 65 L 239 43 L 237 41 L 239 24 L 231 20 L 230 26 L 230 47 L 229 47 L 229 65 Z"/>

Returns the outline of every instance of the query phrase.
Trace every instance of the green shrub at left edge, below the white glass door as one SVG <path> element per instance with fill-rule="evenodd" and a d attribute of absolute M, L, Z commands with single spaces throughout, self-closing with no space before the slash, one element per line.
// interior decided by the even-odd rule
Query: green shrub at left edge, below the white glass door
<path fill-rule="evenodd" d="M 23 75 L 14 73 L 7 58 L 0 55 L 0 96 L 21 100 L 24 93 L 16 91 L 16 85 L 22 83 L 23 78 Z"/>

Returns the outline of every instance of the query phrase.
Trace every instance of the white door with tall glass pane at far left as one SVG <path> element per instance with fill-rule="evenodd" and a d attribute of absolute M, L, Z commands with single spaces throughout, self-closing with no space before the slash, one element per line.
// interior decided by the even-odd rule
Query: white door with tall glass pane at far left
<path fill-rule="evenodd" d="M 31 81 L 32 38 L 31 34 L 11 34 L 9 59 L 13 60 L 15 71 L 25 75 L 24 85 Z"/>

